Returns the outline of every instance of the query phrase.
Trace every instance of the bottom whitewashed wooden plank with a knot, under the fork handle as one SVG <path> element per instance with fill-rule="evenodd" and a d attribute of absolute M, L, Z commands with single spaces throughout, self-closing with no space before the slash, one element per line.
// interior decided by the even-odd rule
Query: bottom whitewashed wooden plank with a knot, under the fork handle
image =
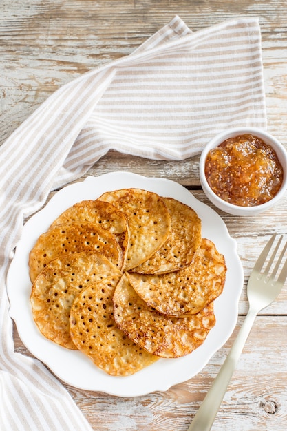
<path fill-rule="evenodd" d="M 244 317 L 238 319 L 231 338 L 202 372 L 167 392 L 128 398 L 77 390 L 66 384 L 65 387 L 94 430 L 185 431 L 220 370 L 243 320 Z M 283 430 L 283 424 L 287 423 L 286 331 L 286 316 L 257 317 L 215 419 L 214 431 Z M 16 350 L 26 353 L 16 333 L 14 339 Z M 285 340 L 283 345 L 282 340 Z"/>

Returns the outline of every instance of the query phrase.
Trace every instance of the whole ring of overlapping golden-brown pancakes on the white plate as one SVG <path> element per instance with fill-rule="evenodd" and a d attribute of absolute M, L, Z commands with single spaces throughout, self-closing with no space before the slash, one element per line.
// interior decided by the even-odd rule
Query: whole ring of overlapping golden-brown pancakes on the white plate
<path fill-rule="evenodd" d="M 191 207 L 136 188 L 68 208 L 36 241 L 29 268 L 41 333 L 120 376 L 200 346 L 226 275 Z"/>

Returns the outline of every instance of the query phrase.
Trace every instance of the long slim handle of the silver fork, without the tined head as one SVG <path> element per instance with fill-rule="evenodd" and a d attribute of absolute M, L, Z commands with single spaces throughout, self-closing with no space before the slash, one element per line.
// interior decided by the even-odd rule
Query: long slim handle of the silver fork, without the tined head
<path fill-rule="evenodd" d="M 220 372 L 213 381 L 209 392 L 207 392 L 204 401 L 202 401 L 202 404 L 198 409 L 198 412 L 195 414 L 191 425 L 189 425 L 188 431 L 211 430 L 213 421 L 216 417 L 217 411 L 220 408 L 220 404 L 222 403 L 222 399 L 225 395 L 228 383 L 231 381 L 235 366 L 238 359 L 240 358 L 240 355 L 244 348 L 244 344 L 251 331 L 256 315 L 257 311 L 254 311 L 249 308 L 249 311 L 246 315 L 246 319 L 244 320 L 240 332 L 238 333 L 233 343 L 230 353 L 226 357 L 224 364 L 220 369 Z"/>

